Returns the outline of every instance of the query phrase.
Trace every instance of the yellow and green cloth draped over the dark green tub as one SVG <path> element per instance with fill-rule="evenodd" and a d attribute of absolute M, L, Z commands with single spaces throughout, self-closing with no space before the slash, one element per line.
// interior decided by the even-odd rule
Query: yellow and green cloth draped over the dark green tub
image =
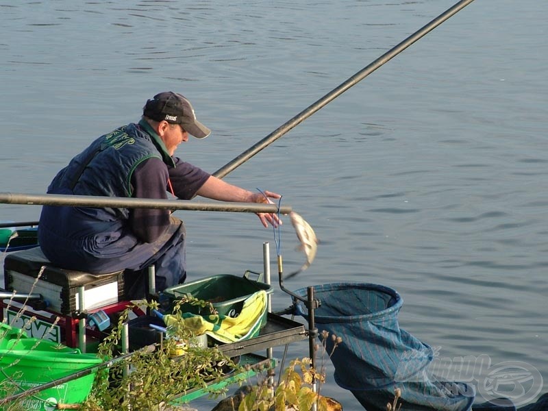
<path fill-rule="evenodd" d="M 195 335 L 206 333 L 221 343 L 234 343 L 249 338 L 248 334 L 260 327 L 265 311 L 266 291 L 260 290 L 245 299 L 242 311 L 236 318 L 221 314 L 201 316 L 184 312 L 181 316 L 165 315 L 164 323 L 169 328 L 182 322 L 182 327 L 190 329 Z"/>

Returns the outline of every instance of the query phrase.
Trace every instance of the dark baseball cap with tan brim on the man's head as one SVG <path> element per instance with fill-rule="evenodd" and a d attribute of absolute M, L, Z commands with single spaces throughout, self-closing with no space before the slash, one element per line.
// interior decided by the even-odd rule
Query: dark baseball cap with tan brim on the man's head
<path fill-rule="evenodd" d="M 190 101 L 173 91 L 160 92 L 147 100 L 142 108 L 142 115 L 155 121 L 165 120 L 171 124 L 180 124 L 188 134 L 196 138 L 206 138 L 211 133 L 208 127 L 197 121 Z"/>

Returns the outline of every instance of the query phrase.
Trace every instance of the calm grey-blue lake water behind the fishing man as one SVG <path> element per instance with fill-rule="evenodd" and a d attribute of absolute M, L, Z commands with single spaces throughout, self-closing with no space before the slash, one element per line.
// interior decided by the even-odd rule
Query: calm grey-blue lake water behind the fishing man
<path fill-rule="evenodd" d="M 0 191 L 45 192 L 163 90 L 186 95 L 213 130 L 177 155 L 215 171 L 451 5 L 3 1 Z M 401 327 L 441 358 L 484 355 L 548 378 L 547 16 L 546 1 L 471 3 L 226 177 L 281 193 L 314 227 L 316 260 L 288 288 L 393 287 Z M 39 212 L 1 205 L 0 220 Z M 262 271 L 263 242 L 275 255 L 255 216 L 177 214 L 190 279 Z M 286 272 L 304 261 L 293 233 L 286 221 Z M 273 298 L 290 305 L 277 286 Z M 289 351 L 308 356 L 306 342 Z M 330 367 L 323 393 L 361 410 Z M 547 391 L 532 383 L 510 397 Z"/>

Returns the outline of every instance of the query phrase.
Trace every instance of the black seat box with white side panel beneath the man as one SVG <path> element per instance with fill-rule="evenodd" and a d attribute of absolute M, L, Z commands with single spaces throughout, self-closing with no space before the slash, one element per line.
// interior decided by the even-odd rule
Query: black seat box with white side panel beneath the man
<path fill-rule="evenodd" d="M 84 286 L 84 306 L 78 290 Z M 63 315 L 91 310 L 123 301 L 123 271 L 90 274 L 53 266 L 40 247 L 8 253 L 4 260 L 4 288 L 18 293 L 42 295 L 47 310 Z"/>

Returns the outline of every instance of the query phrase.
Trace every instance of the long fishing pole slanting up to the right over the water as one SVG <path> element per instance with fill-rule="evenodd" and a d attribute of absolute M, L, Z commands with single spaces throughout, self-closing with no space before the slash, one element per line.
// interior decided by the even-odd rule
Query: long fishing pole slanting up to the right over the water
<path fill-rule="evenodd" d="M 338 96 L 343 94 L 346 90 L 351 88 L 352 86 L 356 85 L 358 82 L 360 82 L 362 79 L 373 73 L 373 71 L 377 70 L 380 66 L 382 66 L 384 63 L 388 62 L 392 58 L 394 58 L 396 55 L 401 53 L 403 50 L 407 49 L 410 45 L 412 45 L 416 40 L 419 40 L 419 38 L 425 36 L 425 34 L 431 32 L 433 29 L 438 27 L 441 23 L 446 21 L 448 18 L 453 16 L 454 14 L 458 13 L 462 8 L 466 7 L 466 5 L 469 5 L 469 3 L 472 3 L 474 0 L 462 0 L 453 5 L 453 7 L 449 8 L 447 11 L 440 14 L 438 17 L 434 18 L 434 20 L 430 21 L 427 25 L 423 26 L 421 29 L 414 32 L 411 36 L 400 42 L 398 45 L 381 55 L 377 60 L 369 64 L 368 66 L 364 67 L 362 70 L 358 71 L 358 73 L 351 76 L 349 79 L 347 79 L 345 82 L 340 84 L 338 87 L 334 88 L 330 92 L 328 92 L 325 96 L 323 96 L 321 99 L 316 101 L 315 103 L 308 106 L 308 108 L 301 111 L 299 114 L 297 114 L 295 117 L 284 123 L 284 125 L 281 125 L 277 129 L 275 129 L 271 134 L 257 142 L 255 145 L 249 147 L 246 151 L 238 155 L 238 157 L 234 158 L 234 160 L 231 160 L 230 162 L 227 162 L 224 166 L 221 167 L 221 169 L 215 171 L 213 175 L 215 177 L 223 178 L 225 175 L 230 173 L 231 171 L 234 171 L 238 166 L 242 165 L 243 163 L 247 162 L 253 155 L 256 155 L 259 151 L 262 151 L 269 145 L 271 145 L 275 140 L 282 137 L 284 134 L 286 134 L 290 129 L 295 127 L 296 125 L 299 125 L 299 123 L 303 122 L 304 120 L 308 119 L 308 117 L 312 116 L 315 112 L 323 108 L 324 105 L 327 105 L 327 103 L 333 101 Z"/>

